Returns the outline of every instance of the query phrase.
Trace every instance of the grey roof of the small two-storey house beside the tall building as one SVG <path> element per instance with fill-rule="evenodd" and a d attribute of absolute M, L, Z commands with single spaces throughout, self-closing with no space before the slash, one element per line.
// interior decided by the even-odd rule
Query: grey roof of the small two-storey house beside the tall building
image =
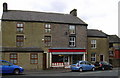
<path fill-rule="evenodd" d="M 88 37 L 107 37 L 108 35 L 101 30 L 97 29 L 88 29 L 87 30 L 87 36 Z"/>

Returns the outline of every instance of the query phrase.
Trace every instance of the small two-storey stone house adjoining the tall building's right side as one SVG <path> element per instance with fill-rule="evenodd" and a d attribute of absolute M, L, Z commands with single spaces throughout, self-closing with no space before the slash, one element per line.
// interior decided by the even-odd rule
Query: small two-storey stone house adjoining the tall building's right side
<path fill-rule="evenodd" d="M 88 61 L 109 62 L 109 40 L 107 34 L 100 30 L 88 29 Z"/>

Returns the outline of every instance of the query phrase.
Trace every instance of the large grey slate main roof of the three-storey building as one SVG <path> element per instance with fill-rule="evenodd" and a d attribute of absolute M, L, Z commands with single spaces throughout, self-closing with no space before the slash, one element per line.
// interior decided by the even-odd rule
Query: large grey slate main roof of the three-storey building
<path fill-rule="evenodd" d="M 8 10 L 3 12 L 2 21 L 28 21 L 28 22 L 48 22 L 63 24 L 87 24 L 80 18 L 71 14 L 47 13 L 35 11 Z"/>

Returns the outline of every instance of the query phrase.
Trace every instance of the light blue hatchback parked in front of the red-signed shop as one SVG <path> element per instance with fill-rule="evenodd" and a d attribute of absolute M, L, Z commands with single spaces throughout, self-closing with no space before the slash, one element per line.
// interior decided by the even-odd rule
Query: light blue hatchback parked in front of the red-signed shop
<path fill-rule="evenodd" d="M 92 70 L 95 71 L 95 66 L 88 61 L 77 61 L 75 64 L 71 65 L 71 70 L 78 70 L 82 72 L 83 70 Z"/>

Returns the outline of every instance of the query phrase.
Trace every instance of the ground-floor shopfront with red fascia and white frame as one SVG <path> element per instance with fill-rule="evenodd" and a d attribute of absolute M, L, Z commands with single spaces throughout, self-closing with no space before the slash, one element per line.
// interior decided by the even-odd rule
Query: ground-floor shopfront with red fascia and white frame
<path fill-rule="evenodd" d="M 77 60 L 85 60 L 86 49 L 80 48 L 67 48 L 49 49 L 50 53 L 50 67 L 65 67 L 69 68 L 70 65 Z"/>

